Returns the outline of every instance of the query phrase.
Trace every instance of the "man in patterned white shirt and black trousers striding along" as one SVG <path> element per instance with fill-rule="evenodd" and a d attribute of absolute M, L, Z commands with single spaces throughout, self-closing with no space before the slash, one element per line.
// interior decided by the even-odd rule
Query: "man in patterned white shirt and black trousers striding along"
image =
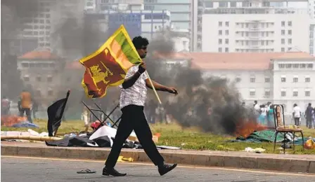
<path fill-rule="evenodd" d="M 146 57 L 148 39 L 141 36 L 136 36 L 132 43 L 141 57 L 141 59 Z M 136 132 L 140 144 L 143 150 L 146 152 L 150 160 L 155 166 L 158 166 L 158 172 L 160 175 L 167 174 L 176 167 L 174 165 L 166 165 L 162 155 L 158 152 L 153 139 L 152 132 L 146 120 L 146 116 L 143 112 L 143 106 L 146 102 L 147 88 L 152 89 L 152 85 L 146 76 L 146 63 L 141 63 L 139 66 L 132 66 L 127 72 L 124 83 L 120 86 L 120 109 L 122 111 L 122 120 L 117 128 L 117 133 L 114 139 L 112 150 L 108 155 L 108 159 L 105 162 L 105 167 L 103 168 L 103 175 L 105 176 L 125 176 L 117 172 L 114 167 L 116 165 L 117 159 L 122 150 L 122 145 L 124 141 L 129 137 L 132 130 Z M 174 87 L 166 87 L 160 85 L 152 80 L 155 90 L 160 90 L 164 92 L 169 92 L 172 94 L 177 94 L 177 90 Z"/>

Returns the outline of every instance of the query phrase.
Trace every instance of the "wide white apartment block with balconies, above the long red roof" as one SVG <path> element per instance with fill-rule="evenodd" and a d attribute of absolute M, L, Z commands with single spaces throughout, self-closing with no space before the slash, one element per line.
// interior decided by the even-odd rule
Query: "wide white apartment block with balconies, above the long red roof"
<path fill-rule="evenodd" d="M 309 52 L 309 15 L 203 15 L 203 52 Z"/>

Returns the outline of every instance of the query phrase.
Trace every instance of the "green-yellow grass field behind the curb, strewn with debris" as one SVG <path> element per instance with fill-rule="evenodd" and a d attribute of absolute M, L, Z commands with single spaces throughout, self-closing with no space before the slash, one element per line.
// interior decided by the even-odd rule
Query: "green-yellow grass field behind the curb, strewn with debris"
<path fill-rule="evenodd" d="M 39 128 L 33 129 L 37 132 L 46 132 L 46 121 L 44 120 L 34 120 L 34 123 L 39 125 Z M 71 132 L 78 133 L 84 130 L 84 123 L 80 120 L 71 120 L 61 123 L 58 130 L 58 135 L 63 136 Z M 158 145 L 166 146 L 180 146 L 185 149 L 195 149 L 195 150 L 212 150 L 212 151 L 243 151 L 246 147 L 251 148 L 264 148 L 265 153 L 273 153 L 274 144 L 272 143 L 248 143 L 248 142 L 229 142 L 235 137 L 227 135 L 214 135 L 210 133 L 200 132 L 197 128 L 189 128 L 182 130 L 179 125 L 165 125 L 156 124 L 151 125 L 153 133 L 160 133 L 161 137 L 159 139 Z M 26 131 L 26 128 L 12 128 L 12 127 L 1 127 L 1 131 Z M 315 137 L 314 129 L 304 128 L 304 137 Z M 280 144 L 276 146 L 279 148 Z M 286 153 L 293 153 L 293 150 L 286 149 Z M 276 153 L 281 151 L 276 149 Z M 297 154 L 315 154 L 315 150 L 304 150 L 302 151 L 302 146 L 295 146 L 295 153 Z"/>

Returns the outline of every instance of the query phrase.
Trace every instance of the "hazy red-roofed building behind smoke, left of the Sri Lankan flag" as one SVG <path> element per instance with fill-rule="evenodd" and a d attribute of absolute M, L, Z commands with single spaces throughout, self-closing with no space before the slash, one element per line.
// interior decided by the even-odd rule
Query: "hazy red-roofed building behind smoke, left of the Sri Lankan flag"
<path fill-rule="evenodd" d="M 18 57 L 18 69 L 24 84 L 34 90 L 34 99 L 50 104 L 58 94 L 65 60 L 49 49 L 37 49 Z"/>

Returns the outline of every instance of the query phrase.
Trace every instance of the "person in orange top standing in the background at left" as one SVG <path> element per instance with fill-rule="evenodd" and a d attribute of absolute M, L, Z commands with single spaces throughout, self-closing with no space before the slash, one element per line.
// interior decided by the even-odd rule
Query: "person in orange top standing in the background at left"
<path fill-rule="evenodd" d="M 20 117 L 24 117 L 24 113 L 25 113 L 27 116 L 27 120 L 30 123 L 33 123 L 33 120 L 31 117 L 32 96 L 30 92 L 23 90 L 22 93 L 20 94 L 20 99 L 21 99 Z"/>

